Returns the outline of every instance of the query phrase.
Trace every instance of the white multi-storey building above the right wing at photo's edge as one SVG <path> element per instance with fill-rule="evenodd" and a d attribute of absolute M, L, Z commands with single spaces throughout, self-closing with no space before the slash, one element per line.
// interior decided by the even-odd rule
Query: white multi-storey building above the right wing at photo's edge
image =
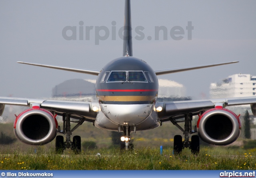
<path fill-rule="evenodd" d="M 210 98 L 236 98 L 255 96 L 256 76 L 250 74 L 234 74 L 221 83 L 210 85 Z"/>

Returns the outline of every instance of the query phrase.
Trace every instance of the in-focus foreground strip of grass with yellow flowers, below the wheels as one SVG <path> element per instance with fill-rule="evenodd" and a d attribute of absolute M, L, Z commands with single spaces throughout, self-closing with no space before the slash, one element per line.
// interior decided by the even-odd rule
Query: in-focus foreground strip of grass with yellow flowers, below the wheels
<path fill-rule="evenodd" d="M 19 149 L 15 149 L 19 150 Z M 202 147 L 200 154 L 192 155 L 189 149 L 173 155 L 172 148 L 163 150 L 141 147 L 133 151 L 96 149 L 75 155 L 66 150 L 56 155 L 54 149 L 42 147 L 0 154 L 1 170 L 248 170 L 256 169 L 256 149 L 243 150 L 228 147 Z M 96 156 L 100 153 L 101 156 Z"/>

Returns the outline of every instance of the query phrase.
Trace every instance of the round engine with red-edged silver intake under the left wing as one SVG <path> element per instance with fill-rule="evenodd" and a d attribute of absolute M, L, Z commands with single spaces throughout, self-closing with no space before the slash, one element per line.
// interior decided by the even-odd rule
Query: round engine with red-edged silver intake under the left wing
<path fill-rule="evenodd" d="M 47 110 L 28 109 L 14 121 L 14 133 L 19 141 L 29 145 L 44 145 L 52 141 L 58 131 L 56 118 Z"/>

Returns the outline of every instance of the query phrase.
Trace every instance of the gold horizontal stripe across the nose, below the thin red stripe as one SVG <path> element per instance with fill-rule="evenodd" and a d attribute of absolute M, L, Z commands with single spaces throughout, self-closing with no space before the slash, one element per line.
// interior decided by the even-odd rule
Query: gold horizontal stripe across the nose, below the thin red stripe
<path fill-rule="evenodd" d="M 102 101 L 115 101 L 115 102 L 139 102 L 151 101 L 156 96 L 98 96 Z"/>

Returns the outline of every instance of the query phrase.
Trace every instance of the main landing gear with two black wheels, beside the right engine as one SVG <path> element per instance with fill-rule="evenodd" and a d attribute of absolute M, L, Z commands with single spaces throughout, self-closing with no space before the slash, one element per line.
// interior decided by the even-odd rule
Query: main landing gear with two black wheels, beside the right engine
<path fill-rule="evenodd" d="M 174 154 L 180 154 L 182 152 L 182 149 L 184 149 L 185 147 L 191 149 L 192 154 L 198 154 L 200 151 L 198 135 L 192 135 L 191 141 L 189 141 L 189 134 L 196 133 L 196 131 L 192 130 L 192 115 L 190 114 L 185 115 L 184 121 L 175 121 L 172 118 L 170 118 L 170 121 L 176 127 L 178 127 L 181 131 L 183 131 L 183 134 L 185 135 L 184 141 L 182 141 L 181 135 L 174 136 L 174 143 L 173 143 Z M 178 122 L 185 122 L 184 129 L 182 129 L 182 127 L 178 125 Z"/>

